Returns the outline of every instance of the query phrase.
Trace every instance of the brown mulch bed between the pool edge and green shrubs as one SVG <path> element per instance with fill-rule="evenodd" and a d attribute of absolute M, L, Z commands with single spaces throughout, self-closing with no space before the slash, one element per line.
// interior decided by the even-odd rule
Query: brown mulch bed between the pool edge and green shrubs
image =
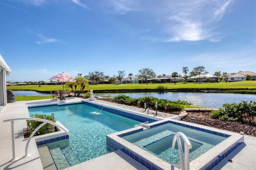
<path fill-rule="evenodd" d="M 111 102 L 111 99 L 102 99 L 104 101 Z M 134 106 L 137 107 L 137 106 Z M 160 111 L 160 110 L 159 110 Z M 167 113 L 166 111 L 161 111 Z M 178 112 L 168 112 L 170 114 L 177 115 Z M 191 121 L 191 118 L 195 118 L 195 121 Z M 212 119 L 209 112 L 188 112 L 188 115 L 182 119 L 182 121 L 187 121 L 191 123 L 196 123 L 200 125 L 205 125 L 209 127 L 219 128 L 223 130 L 229 130 L 232 132 L 244 132 L 246 135 L 256 136 L 255 125 L 243 124 L 240 122 L 228 122 L 220 121 L 218 119 Z"/>

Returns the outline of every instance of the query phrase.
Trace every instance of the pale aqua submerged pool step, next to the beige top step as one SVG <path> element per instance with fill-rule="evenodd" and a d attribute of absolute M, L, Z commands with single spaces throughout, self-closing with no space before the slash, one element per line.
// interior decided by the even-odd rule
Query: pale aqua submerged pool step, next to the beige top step
<path fill-rule="evenodd" d="M 68 160 L 66 159 L 65 155 L 63 154 L 62 150 L 59 147 L 50 149 L 50 153 L 54 158 L 54 162 L 58 170 L 62 170 L 70 167 Z"/>

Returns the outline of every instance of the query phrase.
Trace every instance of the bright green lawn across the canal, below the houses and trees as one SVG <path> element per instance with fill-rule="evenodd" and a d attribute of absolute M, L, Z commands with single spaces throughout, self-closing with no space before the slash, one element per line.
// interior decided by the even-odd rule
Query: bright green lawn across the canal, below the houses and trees
<path fill-rule="evenodd" d="M 224 93 L 246 93 L 256 94 L 256 81 L 236 81 L 236 82 L 220 82 L 220 83 L 148 83 L 146 84 L 98 84 L 89 85 L 89 89 L 93 89 L 94 93 L 99 92 L 143 92 L 156 91 L 159 86 L 163 86 L 167 91 L 221 91 Z M 12 85 L 7 86 L 7 90 L 33 90 L 38 92 L 50 93 L 62 89 L 62 85 Z M 65 90 L 71 90 L 64 88 Z"/>

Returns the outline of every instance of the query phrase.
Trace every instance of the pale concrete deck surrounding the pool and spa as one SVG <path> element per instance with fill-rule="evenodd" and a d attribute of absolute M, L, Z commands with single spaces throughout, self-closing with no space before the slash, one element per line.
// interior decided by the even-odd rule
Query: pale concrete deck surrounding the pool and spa
<path fill-rule="evenodd" d="M 78 102 L 79 98 L 70 99 L 69 102 Z M 28 158 L 22 158 L 25 155 L 25 146 L 27 139 L 24 139 L 22 129 L 26 128 L 26 121 L 14 122 L 14 134 L 15 134 L 15 149 L 16 157 L 20 158 L 14 162 L 9 162 L 12 159 L 12 142 L 11 142 L 11 125 L 10 122 L 4 122 L 7 119 L 29 117 L 28 106 L 29 105 L 44 105 L 50 103 L 56 103 L 57 101 L 51 101 L 50 99 L 38 100 L 38 101 L 17 101 L 15 103 L 8 103 L 1 109 L 0 113 L 0 169 L 43 169 L 36 142 L 32 138 L 30 145 L 28 146 L 28 154 L 31 154 Z M 97 101 L 96 102 L 104 102 Z M 58 103 L 58 102 L 57 102 Z M 106 103 L 106 102 L 104 102 Z M 110 103 L 108 103 L 110 104 Z M 114 104 L 111 104 L 114 105 Z M 116 107 L 122 107 L 122 105 L 115 105 Z M 126 106 L 124 106 L 126 107 Z M 130 108 L 132 109 L 132 108 Z M 138 109 L 138 108 L 134 108 Z M 143 112 L 144 109 L 141 110 Z M 240 145 L 236 150 L 229 154 L 222 162 L 220 162 L 214 169 L 247 169 L 256 170 L 256 137 L 244 135 L 244 143 Z M 230 161 L 228 161 L 230 160 Z M 117 164 L 118 162 L 118 164 Z M 120 166 L 120 164 L 122 166 Z M 47 167 L 45 168 L 47 169 Z M 49 168 L 50 169 L 50 168 Z M 140 164 L 137 164 L 130 157 L 120 153 L 112 152 L 104 156 L 100 156 L 93 160 L 83 162 L 76 166 L 72 166 L 67 169 L 143 169 Z"/>

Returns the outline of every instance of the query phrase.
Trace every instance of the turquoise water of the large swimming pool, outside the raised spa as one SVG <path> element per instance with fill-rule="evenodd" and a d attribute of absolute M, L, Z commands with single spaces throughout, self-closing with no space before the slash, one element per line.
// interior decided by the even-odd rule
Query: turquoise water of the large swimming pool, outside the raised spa
<path fill-rule="evenodd" d="M 70 130 L 69 141 L 48 144 L 58 170 L 74 166 L 107 153 L 106 135 L 140 123 L 113 113 L 102 111 L 84 104 L 29 108 L 30 117 L 35 114 L 51 115 Z M 67 143 L 69 142 L 69 143 Z M 68 163 L 64 163 L 61 154 Z"/>

